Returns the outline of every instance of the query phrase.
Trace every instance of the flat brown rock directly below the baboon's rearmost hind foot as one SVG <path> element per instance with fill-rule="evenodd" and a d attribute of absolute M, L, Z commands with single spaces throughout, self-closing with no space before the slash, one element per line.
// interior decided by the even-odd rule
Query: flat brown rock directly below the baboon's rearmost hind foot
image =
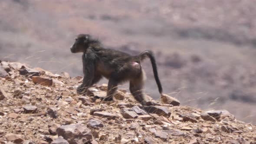
<path fill-rule="evenodd" d="M 164 106 L 146 106 L 144 109 L 149 113 L 157 114 L 159 116 L 164 116 L 167 118 L 171 116 L 171 111 Z"/>

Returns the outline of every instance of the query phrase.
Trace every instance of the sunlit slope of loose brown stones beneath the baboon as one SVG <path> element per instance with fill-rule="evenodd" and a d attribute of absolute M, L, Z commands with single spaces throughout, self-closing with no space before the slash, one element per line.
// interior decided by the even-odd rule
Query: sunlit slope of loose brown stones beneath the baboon
<path fill-rule="evenodd" d="M 168 95 L 142 106 L 126 89 L 102 102 L 107 85 L 77 95 L 81 79 L 1 62 L 0 144 L 256 144 L 256 126 L 226 110 L 182 106 Z"/>

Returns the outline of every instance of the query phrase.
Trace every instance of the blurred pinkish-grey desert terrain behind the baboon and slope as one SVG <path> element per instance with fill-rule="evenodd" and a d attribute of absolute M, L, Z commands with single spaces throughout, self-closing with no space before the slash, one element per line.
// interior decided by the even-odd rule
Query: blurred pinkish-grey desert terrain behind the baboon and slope
<path fill-rule="evenodd" d="M 256 124 L 256 0 L 1 0 L 0 59 L 82 75 L 69 46 L 89 33 L 107 47 L 154 51 L 164 93 Z M 151 64 L 145 92 L 158 99 Z M 106 83 L 106 80 L 101 83 Z M 122 87 L 128 88 L 128 85 Z"/>

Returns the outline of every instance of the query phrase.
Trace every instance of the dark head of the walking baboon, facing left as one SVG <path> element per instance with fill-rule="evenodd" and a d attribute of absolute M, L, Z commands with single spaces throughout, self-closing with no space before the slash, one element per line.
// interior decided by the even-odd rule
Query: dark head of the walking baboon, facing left
<path fill-rule="evenodd" d="M 72 46 L 70 46 L 71 52 L 85 52 L 85 50 L 89 47 L 89 39 L 90 35 L 79 34 L 77 38 L 75 38 L 75 43 Z"/>

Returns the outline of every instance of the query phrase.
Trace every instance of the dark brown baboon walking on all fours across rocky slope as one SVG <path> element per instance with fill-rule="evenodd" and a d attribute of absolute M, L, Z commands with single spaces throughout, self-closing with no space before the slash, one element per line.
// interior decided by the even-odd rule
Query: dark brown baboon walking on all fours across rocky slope
<path fill-rule="evenodd" d="M 129 81 L 131 94 L 143 104 L 144 70 L 141 67 L 141 62 L 146 58 L 151 60 L 158 91 L 162 94 L 163 90 L 158 78 L 157 65 L 151 51 L 147 50 L 138 56 L 131 56 L 118 50 L 105 49 L 98 39 L 93 39 L 89 34 L 79 34 L 70 50 L 72 53 L 83 52 L 84 78 L 82 85 L 77 88 L 78 94 L 85 95 L 90 86 L 105 77 L 109 81 L 107 96 L 104 101 L 112 100 L 118 84 Z"/>

